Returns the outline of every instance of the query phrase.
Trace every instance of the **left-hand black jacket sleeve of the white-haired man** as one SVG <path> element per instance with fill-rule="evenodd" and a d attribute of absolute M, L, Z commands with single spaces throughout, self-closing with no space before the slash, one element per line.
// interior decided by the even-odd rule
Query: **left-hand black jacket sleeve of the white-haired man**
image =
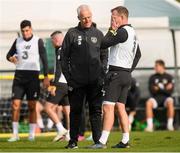
<path fill-rule="evenodd" d="M 70 60 L 69 60 L 70 46 L 71 46 L 71 36 L 70 33 L 67 32 L 64 37 L 64 41 L 62 44 L 62 51 L 61 51 L 61 67 L 67 82 L 69 82 L 70 80 Z"/>

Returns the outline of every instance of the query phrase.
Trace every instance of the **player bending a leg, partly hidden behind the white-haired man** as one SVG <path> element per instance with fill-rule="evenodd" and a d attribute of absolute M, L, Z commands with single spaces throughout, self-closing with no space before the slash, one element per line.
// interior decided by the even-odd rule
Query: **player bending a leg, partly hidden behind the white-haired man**
<path fill-rule="evenodd" d="M 52 44 L 55 47 L 55 78 L 49 86 L 48 90 L 50 92 L 47 97 L 47 102 L 45 104 L 45 111 L 55 123 L 57 128 L 57 136 L 53 139 L 54 142 L 65 137 L 69 141 L 69 99 L 68 99 L 68 86 L 66 79 L 62 73 L 61 60 L 60 56 L 62 51 L 62 42 L 64 36 L 61 31 L 54 31 L 51 34 Z M 59 105 L 59 106 L 58 106 Z M 59 114 L 57 113 L 58 107 L 62 106 L 62 110 L 65 114 L 67 130 L 63 127 L 63 124 L 60 120 Z"/>

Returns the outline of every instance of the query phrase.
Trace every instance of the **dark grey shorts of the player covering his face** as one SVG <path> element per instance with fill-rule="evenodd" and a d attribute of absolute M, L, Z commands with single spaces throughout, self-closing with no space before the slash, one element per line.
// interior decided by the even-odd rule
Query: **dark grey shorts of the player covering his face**
<path fill-rule="evenodd" d="M 126 103 L 128 90 L 131 85 L 131 73 L 128 71 L 109 71 L 105 81 L 106 102 Z"/>

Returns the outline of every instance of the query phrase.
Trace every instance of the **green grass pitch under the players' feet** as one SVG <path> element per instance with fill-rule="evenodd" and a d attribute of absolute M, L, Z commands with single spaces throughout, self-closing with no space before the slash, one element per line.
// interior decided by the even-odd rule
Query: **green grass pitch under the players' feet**
<path fill-rule="evenodd" d="M 120 138 L 120 132 L 112 132 L 108 148 L 96 150 L 86 149 L 92 141 L 79 142 L 79 149 L 64 149 L 67 142 L 54 143 L 53 136 L 38 136 L 34 142 L 29 142 L 27 138 L 21 138 L 18 142 L 0 138 L 0 152 L 180 152 L 180 131 L 131 132 L 130 148 L 111 149 Z"/>

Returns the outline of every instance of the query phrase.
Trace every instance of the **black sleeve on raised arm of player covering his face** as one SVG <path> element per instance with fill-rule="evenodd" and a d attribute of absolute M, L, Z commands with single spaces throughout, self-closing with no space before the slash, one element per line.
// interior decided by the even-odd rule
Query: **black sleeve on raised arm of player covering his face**
<path fill-rule="evenodd" d="M 109 30 L 103 38 L 101 48 L 106 49 L 110 46 L 117 45 L 118 43 L 123 43 L 127 40 L 127 38 L 128 33 L 124 28 L 120 28 L 117 31 Z"/>

